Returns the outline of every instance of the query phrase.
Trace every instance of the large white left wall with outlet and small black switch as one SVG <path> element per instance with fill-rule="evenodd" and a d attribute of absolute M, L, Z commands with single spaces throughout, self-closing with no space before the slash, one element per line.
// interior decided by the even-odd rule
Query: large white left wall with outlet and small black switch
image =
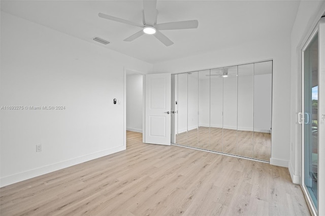
<path fill-rule="evenodd" d="M 1 110 L 1 186 L 124 150 L 124 67 L 152 70 L 1 12 L 1 105 L 66 108 Z"/>

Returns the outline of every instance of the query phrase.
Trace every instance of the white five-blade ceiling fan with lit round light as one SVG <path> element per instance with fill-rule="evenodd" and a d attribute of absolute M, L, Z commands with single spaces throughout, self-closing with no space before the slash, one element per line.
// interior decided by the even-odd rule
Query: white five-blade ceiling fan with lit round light
<path fill-rule="evenodd" d="M 157 24 L 158 11 L 156 10 L 157 1 L 156 0 L 144 0 L 143 1 L 143 24 L 138 24 L 132 21 L 124 20 L 118 17 L 113 17 L 107 14 L 99 13 L 98 16 L 104 19 L 121 22 L 128 25 L 138 26 L 142 29 L 130 37 L 124 39 L 124 41 L 133 41 L 139 38 L 141 35 L 153 34 L 153 36 L 158 39 L 161 43 L 166 46 L 174 44 L 165 34 L 161 33 L 160 30 L 174 30 L 174 29 L 188 29 L 197 28 L 199 25 L 198 20 L 187 20 L 178 22 L 167 22 Z"/>

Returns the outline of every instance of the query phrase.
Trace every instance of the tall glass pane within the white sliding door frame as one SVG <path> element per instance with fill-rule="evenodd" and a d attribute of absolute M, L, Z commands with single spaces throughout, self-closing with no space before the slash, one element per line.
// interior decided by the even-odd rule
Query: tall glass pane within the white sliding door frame
<path fill-rule="evenodd" d="M 304 52 L 304 183 L 317 209 L 318 197 L 318 33 Z"/>

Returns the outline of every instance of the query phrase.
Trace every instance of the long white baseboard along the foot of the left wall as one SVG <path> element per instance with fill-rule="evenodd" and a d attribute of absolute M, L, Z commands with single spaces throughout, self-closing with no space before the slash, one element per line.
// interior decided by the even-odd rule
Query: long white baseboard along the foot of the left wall
<path fill-rule="evenodd" d="M 123 151 L 125 149 L 126 149 L 125 146 L 115 147 L 115 148 L 108 149 L 108 150 L 105 150 L 105 151 L 85 155 L 85 156 L 82 156 L 82 157 L 79 157 L 79 158 L 73 158 L 73 159 L 70 159 L 70 160 L 67 160 L 67 161 L 62 161 L 62 162 L 59 162 L 59 163 L 51 164 L 51 165 L 40 167 L 40 168 L 37 168 L 37 169 L 32 169 L 32 170 L 28 170 L 28 171 L 25 171 L 25 172 L 20 172 L 20 173 L 14 174 L 14 175 L 2 177 L 2 178 L 0 178 L 0 187 L 4 187 L 4 186 L 7 186 L 7 185 L 17 183 L 17 182 L 21 182 L 21 181 L 24 181 L 24 180 L 29 179 L 29 178 L 33 178 L 33 177 L 37 177 L 37 176 L 40 176 L 40 175 L 43 175 L 43 174 L 54 172 L 56 170 L 67 168 L 67 167 L 77 165 L 77 164 L 80 164 L 80 163 L 83 163 L 83 162 L 86 162 L 86 161 L 90 161 L 90 160 L 93 160 L 93 159 L 96 159 L 96 158 L 111 155 L 113 153 L 120 152 L 120 151 Z"/>

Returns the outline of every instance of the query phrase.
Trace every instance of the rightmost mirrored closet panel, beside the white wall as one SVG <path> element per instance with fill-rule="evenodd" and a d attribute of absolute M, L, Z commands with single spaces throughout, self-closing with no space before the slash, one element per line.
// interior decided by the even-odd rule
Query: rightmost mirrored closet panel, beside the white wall
<path fill-rule="evenodd" d="M 272 61 L 254 63 L 254 156 L 270 161 Z"/>

